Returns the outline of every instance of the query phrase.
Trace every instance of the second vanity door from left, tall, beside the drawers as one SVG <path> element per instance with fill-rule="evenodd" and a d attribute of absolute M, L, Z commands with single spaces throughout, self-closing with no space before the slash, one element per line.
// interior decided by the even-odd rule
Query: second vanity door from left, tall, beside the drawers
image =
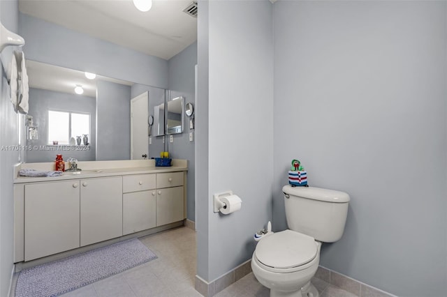
<path fill-rule="evenodd" d="M 122 177 L 82 179 L 80 192 L 81 246 L 122 236 Z"/>

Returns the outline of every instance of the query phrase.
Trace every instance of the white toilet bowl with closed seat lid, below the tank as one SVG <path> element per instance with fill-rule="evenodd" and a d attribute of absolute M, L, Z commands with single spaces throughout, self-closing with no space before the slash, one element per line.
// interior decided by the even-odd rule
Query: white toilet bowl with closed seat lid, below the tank
<path fill-rule="evenodd" d="M 321 243 L 285 230 L 265 236 L 251 258 L 251 270 L 270 296 L 318 297 L 310 283 L 320 260 Z"/>

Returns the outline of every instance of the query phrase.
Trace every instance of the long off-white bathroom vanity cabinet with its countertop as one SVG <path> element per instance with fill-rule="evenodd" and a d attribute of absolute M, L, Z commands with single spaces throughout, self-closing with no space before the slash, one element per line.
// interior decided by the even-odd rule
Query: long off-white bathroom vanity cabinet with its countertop
<path fill-rule="evenodd" d="M 115 168 L 124 162 L 145 167 Z M 152 169 L 148 162 L 154 161 L 107 161 L 101 165 L 113 168 L 104 172 L 15 178 L 14 263 L 37 263 L 61 252 L 74 254 L 181 225 L 186 160 L 177 160 L 175 170 Z M 52 168 L 52 163 L 45 168 L 35 164 L 30 166 Z"/>

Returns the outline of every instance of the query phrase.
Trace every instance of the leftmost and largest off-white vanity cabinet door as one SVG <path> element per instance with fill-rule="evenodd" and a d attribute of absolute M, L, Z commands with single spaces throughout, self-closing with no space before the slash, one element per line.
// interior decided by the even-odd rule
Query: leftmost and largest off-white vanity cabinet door
<path fill-rule="evenodd" d="M 79 248 L 79 181 L 25 185 L 24 260 Z"/>

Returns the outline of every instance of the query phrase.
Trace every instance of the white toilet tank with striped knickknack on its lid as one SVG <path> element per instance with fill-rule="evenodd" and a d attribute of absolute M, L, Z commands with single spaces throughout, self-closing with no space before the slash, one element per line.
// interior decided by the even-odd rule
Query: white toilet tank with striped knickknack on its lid
<path fill-rule="evenodd" d="M 350 200 L 347 193 L 291 185 L 282 190 L 288 229 L 324 243 L 342 238 Z"/>

